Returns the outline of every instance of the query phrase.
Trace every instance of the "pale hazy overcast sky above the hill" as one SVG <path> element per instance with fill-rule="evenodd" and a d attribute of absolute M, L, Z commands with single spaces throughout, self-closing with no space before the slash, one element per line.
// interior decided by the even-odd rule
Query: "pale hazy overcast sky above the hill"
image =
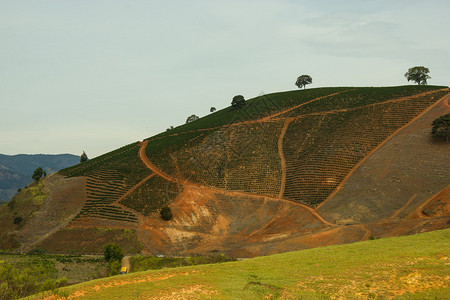
<path fill-rule="evenodd" d="M 0 0 L 0 153 L 89 158 L 235 95 L 450 85 L 448 0 Z"/>

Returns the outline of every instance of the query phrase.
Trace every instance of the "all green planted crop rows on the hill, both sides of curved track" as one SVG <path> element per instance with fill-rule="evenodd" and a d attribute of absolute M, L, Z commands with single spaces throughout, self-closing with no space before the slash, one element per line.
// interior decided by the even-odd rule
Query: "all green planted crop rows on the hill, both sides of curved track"
<path fill-rule="evenodd" d="M 179 183 L 316 206 L 361 159 L 448 93 L 443 88 L 343 87 L 268 94 L 248 100 L 242 110 L 230 106 L 149 138 L 146 155 Z M 89 201 L 80 216 L 119 218 L 111 203 L 150 175 L 138 147 L 132 144 L 61 172 L 89 178 Z M 176 188 L 170 187 L 169 199 L 163 199 L 168 185 L 153 178 L 121 203 L 148 214 L 174 198 Z M 124 220 L 134 220 L 126 214 Z"/>

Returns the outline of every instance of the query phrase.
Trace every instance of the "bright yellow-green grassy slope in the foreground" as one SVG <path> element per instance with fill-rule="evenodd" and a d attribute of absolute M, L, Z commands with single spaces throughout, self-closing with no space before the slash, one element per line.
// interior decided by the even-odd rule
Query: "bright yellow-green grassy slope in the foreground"
<path fill-rule="evenodd" d="M 450 229 L 446 229 L 115 276 L 62 288 L 53 298 L 448 299 L 449 256 Z"/>

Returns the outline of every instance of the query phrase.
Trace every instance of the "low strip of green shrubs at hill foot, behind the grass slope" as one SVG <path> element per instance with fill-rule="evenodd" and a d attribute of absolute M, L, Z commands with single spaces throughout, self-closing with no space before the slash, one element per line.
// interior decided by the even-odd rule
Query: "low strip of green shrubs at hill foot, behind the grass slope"
<path fill-rule="evenodd" d="M 131 272 L 141 272 L 148 270 L 159 270 L 164 268 L 217 264 L 235 260 L 235 258 L 228 257 L 223 254 L 209 256 L 196 255 L 189 257 L 155 257 L 136 255 L 130 258 L 130 264 Z"/>

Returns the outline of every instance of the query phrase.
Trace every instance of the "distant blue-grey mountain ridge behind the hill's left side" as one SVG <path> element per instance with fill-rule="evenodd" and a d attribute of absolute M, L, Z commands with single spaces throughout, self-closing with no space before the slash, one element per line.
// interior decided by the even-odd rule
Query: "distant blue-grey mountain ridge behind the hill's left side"
<path fill-rule="evenodd" d="M 0 154 L 0 203 L 9 201 L 18 188 L 29 184 L 37 167 L 52 174 L 79 162 L 80 157 L 73 154 Z"/>

